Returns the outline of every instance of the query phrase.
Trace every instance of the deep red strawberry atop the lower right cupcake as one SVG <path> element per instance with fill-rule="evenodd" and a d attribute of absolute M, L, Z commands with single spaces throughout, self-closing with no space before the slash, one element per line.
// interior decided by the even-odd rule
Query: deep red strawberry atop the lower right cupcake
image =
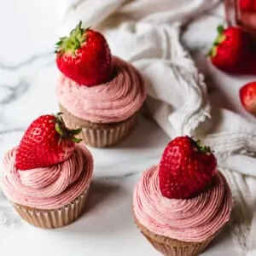
<path fill-rule="evenodd" d="M 211 149 L 191 137 L 176 137 L 160 160 L 160 191 L 167 198 L 186 199 L 207 188 L 217 161 Z"/>

